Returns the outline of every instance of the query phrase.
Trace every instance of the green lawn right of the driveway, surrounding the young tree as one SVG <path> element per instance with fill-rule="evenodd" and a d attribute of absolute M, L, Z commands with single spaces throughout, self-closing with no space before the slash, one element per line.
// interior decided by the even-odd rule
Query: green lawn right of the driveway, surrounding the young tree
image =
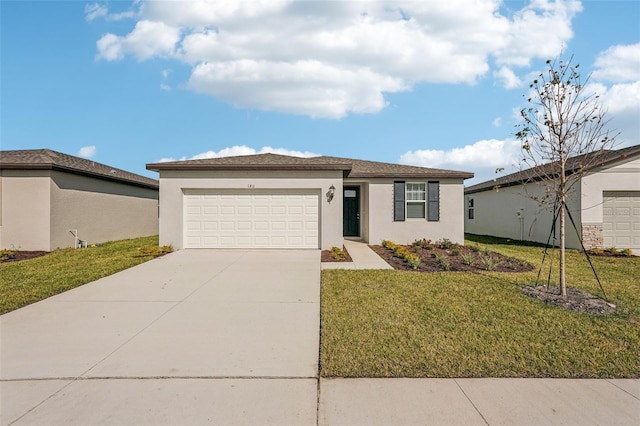
<path fill-rule="evenodd" d="M 542 248 L 468 236 L 540 265 Z M 553 253 L 557 266 L 557 251 Z M 322 272 L 324 377 L 640 377 L 640 259 L 593 258 L 616 314 L 566 311 L 520 289 L 528 273 Z M 602 296 L 584 255 L 570 286 Z M 546 277 L 546 272 L 543 273 Z M 557 275 L 554 272 L 554 277 Z M 553 284 L 553 282 L 552 282 Z"/>

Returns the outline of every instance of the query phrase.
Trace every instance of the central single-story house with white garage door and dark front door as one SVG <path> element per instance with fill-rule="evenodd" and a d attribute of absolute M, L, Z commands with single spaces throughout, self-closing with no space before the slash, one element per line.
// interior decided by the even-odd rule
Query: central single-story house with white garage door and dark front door
<path fill-rule="evenodd" d="M 472 173 L 336 157 L 247 155 L 148 164 L 160 173 L 160 244 L 312 248 L 464 240 Z"/>

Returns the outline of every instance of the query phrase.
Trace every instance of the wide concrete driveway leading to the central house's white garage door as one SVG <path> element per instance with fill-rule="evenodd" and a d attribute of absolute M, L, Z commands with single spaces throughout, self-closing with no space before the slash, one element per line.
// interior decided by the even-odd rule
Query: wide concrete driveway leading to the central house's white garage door
<path fill-rule="evenodd" d="M 182 250 L 0 317 L 2 424 L 315 424 L 318 251 Z"/>

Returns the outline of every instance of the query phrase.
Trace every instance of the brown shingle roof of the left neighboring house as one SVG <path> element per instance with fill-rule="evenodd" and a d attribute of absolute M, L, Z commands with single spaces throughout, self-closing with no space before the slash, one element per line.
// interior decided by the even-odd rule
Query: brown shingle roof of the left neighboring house
<path fill-rule="evenodd" d="M 57 170 L 145 188 L 158 189 L 158 181 L 155 179 L 50 149 L 0 151 L 0 169 Z"/>

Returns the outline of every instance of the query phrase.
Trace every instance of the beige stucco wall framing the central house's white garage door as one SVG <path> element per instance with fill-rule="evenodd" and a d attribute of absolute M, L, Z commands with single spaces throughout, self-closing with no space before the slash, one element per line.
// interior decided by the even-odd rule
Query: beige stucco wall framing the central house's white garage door
<path fill-rule="evenodd" d="M 331 203 L 325 197 L 336 188 Z M 320 194 L 320 248 L 342 245 L 342 171 L 162 171 L 160 244 L 183 247 L 183 189 L 310 189 Z"/>

